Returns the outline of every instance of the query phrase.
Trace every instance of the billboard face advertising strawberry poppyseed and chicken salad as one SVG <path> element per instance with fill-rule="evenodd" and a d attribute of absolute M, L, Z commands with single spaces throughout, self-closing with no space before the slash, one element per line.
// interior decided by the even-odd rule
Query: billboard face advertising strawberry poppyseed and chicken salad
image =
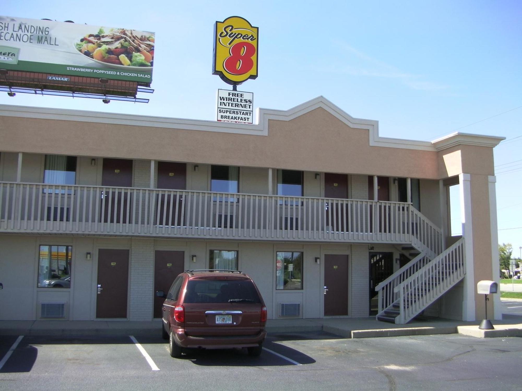
<path fill-rule="evenodd" d="M 150 84 L 148 31 L 0 16 L 0 68 Z"/>

